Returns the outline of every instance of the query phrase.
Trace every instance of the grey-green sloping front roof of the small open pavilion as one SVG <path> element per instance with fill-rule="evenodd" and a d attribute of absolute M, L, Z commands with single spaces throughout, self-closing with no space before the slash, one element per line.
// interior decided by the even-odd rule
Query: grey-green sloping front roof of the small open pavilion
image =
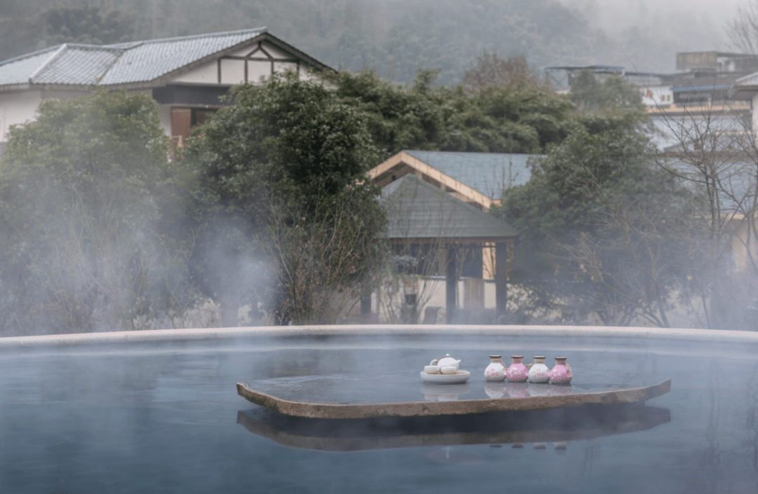
<path fill-rule="evenodd" d="M 389 238 L 508 238 L 515 229 L 413 175 L 382 189 Z"/>

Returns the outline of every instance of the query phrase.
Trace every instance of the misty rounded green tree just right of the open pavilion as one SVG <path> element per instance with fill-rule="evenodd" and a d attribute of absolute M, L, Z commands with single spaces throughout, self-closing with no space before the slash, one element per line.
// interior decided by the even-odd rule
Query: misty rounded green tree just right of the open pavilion
<path fill-rule="evenodd" d="M 584 123 L 495 211 L 521 232 L 514 276 L 531 288 L 533 312 L 668 326 L 691 272 L 690 195 L 656 167 L 640 119 L 616 111 Z"/>

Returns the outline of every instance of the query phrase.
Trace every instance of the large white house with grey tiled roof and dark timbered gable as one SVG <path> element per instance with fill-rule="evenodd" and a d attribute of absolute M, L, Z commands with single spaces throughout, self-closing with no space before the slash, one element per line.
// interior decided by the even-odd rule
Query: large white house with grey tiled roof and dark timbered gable
<path fill-rule="evenodd" d="M 96 87 L 149 92 L 167 135 L 189 129 L 229 101 L 233 85 L 295 70 L 302 78 L 334 71 L 265 27 L 116 45 L 64 44 L 0 61 L 0 143 L 12 125 L 33 120 L 46 98 Z"/>

